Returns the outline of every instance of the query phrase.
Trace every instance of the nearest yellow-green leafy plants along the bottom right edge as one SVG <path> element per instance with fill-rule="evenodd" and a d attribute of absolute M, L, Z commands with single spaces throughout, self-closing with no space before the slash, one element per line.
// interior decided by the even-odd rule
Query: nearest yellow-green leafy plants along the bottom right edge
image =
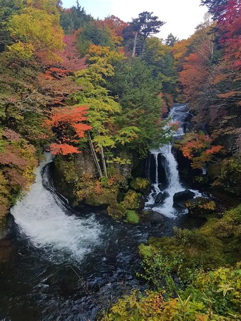
<path fill-rule="evenodd" d="M 134 290 L 119 299 L 102 320 L 211 321 L 239 319 L 240 268 L 200 271 L 179 294 L 165 300 L 165 290 Z"/>

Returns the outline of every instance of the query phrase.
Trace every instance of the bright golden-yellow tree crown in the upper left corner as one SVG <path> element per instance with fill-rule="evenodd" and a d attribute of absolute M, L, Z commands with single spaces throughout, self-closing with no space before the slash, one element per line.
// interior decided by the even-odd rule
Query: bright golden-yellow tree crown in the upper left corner
<path fill-rule="evenodd" d="M 23 7 L 20 14 L 11 16 L 8 28 L 15 41 L 8 46 L 13 61 L 16 58 L 29 60 L 32 56 L 41 62 L 58 60 L 55 52 L 64 48 L 64 34 L 57 13 Z"/>

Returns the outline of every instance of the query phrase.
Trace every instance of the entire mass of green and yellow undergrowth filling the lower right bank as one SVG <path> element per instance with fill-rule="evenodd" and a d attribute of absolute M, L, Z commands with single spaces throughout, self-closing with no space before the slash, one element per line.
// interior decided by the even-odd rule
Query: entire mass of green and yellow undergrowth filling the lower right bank
<path fill-rule="evenodd" d="M 174 228 L 174 237 L 139 246 L 149 285 L 119 299 L 102 320 L 239 319 L 241 205 L 201 228 Z"/>

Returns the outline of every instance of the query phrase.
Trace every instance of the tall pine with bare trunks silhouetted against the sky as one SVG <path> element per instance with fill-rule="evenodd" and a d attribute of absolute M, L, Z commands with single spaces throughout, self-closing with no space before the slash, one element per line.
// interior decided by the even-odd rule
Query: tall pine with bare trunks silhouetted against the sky
<path fill-rule="evenodd" d="M 132 51 L 132 57 L 136 54 L 136 45 L 139 40 L 141 43 L 141 52 L 145 50 L 145 41 L 149 35 L 155 35 L 160 32 L 160 27 L 165 22 L 158 20 L 157 16 L 153 16 L 153 12 L 141 12 L 139 13 L 138 18 L 132 19 L 130 23 L 131 31 L 134 32 L 134 45 Z M 138 39 L 139 38 L 139 39 Z"/>

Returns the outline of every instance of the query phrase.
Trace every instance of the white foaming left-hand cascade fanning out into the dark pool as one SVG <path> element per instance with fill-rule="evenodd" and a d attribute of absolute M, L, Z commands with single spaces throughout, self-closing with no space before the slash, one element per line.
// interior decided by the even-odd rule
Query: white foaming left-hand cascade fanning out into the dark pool
<path fill-rule="evenodd" d="M 46 155 L 47 160 L 36 170 L 36 182 L 17 201 L 11 213 L 20 231 L 35 246 L 48 250 L 50 259 L 71 257 L 81 261 L 100 242 L 101 226 L 94 214 L 87 218 L 66 215 L 67 210 L 61 200 L 44 188 L 42 182 L 47 181 L 48 177 L 42 170 L 52 161 L 51 155 Z"/>

